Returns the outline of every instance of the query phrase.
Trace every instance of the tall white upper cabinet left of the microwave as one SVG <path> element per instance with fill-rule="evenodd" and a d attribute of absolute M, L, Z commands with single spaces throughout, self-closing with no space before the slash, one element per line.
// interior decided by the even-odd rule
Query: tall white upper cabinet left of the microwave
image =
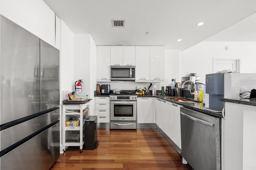
<path fill-rule="evenodd" d="M 110 81 L 110 46 L 98 46 L 97 81 Z"/>

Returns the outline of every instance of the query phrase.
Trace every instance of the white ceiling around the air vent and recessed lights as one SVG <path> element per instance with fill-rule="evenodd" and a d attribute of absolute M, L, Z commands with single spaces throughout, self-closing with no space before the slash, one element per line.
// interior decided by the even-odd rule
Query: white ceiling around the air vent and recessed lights
<path fill-rule="evenodd" d="M 183 51 L 207 41 L 254 41 L 253 29 L 220 31 L 256 13 L 256 0 L 44 0 L 73 33 L 90 33 L 96 45 L 165 45 Z M 111 20 L 125 20 L 124 28 Z M 196 23 L 204 21 L 198 27 Z M 249 22 L 250 24 L 250 22 Z M 236 31 L 240 31 L 236 33 Z M 252 34 L 244 31 L 252 31 Z M 150 32 L 150 34 L 145 34 Z M 254 32 L 254 33 L 253 33 Z M 216 35 L 214 37 L 213 35 Z M 239 35 L 240 38 L 234 37 Z M 213 37 L 212 37 L 213 36 Z M 177 39 L 182 41 L 177 42 Z M 250 39 L 250 40 L 249 40 Z M 229 40 L 228 40 L 229 41 Z"/>

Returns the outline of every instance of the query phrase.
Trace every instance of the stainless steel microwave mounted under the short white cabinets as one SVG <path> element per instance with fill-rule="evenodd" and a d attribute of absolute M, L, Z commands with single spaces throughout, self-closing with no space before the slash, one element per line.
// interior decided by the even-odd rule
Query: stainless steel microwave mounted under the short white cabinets
<path fill-rule="evenodd" d="M 135 80 L 135 66 L 110 66 L 110 80 Z"/>

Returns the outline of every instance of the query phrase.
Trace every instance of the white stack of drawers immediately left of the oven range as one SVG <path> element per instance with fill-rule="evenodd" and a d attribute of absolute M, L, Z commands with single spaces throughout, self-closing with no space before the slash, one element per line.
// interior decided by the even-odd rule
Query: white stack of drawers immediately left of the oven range
<path fill-rule="evenodd" d="M 110 122 L 109 97 L 95 97 L 95 115 L 98 116 L 98 123 Z"/>

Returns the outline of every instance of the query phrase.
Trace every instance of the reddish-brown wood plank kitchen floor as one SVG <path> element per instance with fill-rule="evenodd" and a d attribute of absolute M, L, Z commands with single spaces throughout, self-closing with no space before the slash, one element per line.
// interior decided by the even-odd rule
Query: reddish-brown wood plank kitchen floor
<path fill-rule="evenodd" d="M 51 170 L 192 170 L 156 129 L 98 129 L 95 150 L 68 147 Z"/>

